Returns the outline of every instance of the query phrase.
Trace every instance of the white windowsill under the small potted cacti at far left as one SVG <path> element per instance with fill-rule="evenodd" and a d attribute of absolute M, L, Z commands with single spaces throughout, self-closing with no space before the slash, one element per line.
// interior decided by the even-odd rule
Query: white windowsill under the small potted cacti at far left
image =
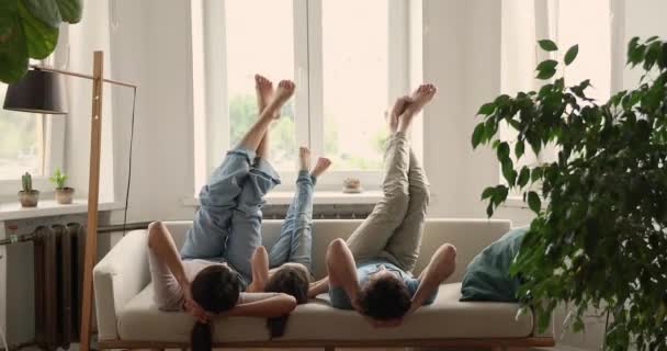
<path fill-rule="evenodd" d="M 124 208 L 125 204 L 120 202 L 100 202 L 99 211 L 112 211 Z M 19 202 L 0 203 L 0 220 L 12 220 L 22 218 L 48 217 L 71 215 L 88 212 L 88 201 L 75 199 L 71 205 L 60 205 L 55 200 L 39 200 L 37 207 L 21 207 Z"/>

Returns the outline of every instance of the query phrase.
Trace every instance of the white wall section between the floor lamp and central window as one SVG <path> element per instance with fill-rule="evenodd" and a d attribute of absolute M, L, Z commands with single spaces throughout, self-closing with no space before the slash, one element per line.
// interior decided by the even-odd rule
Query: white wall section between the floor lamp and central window
<path fill-rule="evenodd" d="M 191 218 L 194 190 L 190 2 L 113 1 L 112 75 L 139 86 L 128 220 Z M 116 199 L 125 197 L 132 95 L 116 93 Z M 121 113 L 123 112 L 123 113 Z"/>

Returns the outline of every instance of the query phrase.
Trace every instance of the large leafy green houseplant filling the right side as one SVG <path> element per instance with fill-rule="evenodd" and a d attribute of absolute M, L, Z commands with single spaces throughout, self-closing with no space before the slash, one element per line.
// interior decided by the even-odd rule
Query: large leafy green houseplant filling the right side
<path fill-rule="evenodd" d="M 577 53 L 565 52 L 563 68 Z M 607 102 L 587 97 L 588 80 L 566 87 L 562 63 L 539 64 L 545 84 L 484 104 L 472 144 L 491 145 L 507 181 L 484 190 L 488 215 L 508 186 L 536 214 L 511 273 L 539 327 L 566 304 L 579 331 L 592 308 L 607 319 L 606 349 L 667 350 L 667 43 L 633 38 L 628 64 L 644 72 L 638 87 Z M 517 131 L 511 143 L 496 138 L 501 123 Z M 511 154 L 547 143 L 556 161 L 515 169 Z"/>

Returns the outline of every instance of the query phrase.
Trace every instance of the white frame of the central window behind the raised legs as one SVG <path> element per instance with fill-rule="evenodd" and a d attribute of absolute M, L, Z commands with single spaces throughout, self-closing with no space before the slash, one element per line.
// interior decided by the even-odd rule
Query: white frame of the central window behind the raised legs
<path fill-rule="evenodd" d="M 203 103 L 206 111 L 193 106 L 194 129 L 200 128 L 200 135 L 206 133 L 205 141 L 195 137 L 195 194 L 206 182 L 208 174 L 217 166 L 224 155 L 213 150 L 224 150 L 229 147 L 228 133 L 223 137 L 219 133 L 216 137 L 213 131 L 219 128 L 229 129 L 229 112 L 227 109 L 227 83 L 225 77 L 227 70 L 226 59 L 226 29 L 219 21 L 221 14 L 226 15 L 226 1 L 204 1 L 203 4 L 193 3 L 193 103 Z M 323 81 L 323 29 L 321 8 L 323 0 L 293 0 L 293 33 L 294 33 L 294 81 L 299 89 L 294 97 L 295 141 L 297 145 L 307 145 L 313 155 L 323 155 L 324 150 L 324 81 Z M 410 11 L 415 11 L 409 0 L 388 0 L 388 29 L 389 48 L 388 67 L 389 87 L 387 97 L 392 99 L 409 91 L 410 84 Z M 201 25 L 203 31 L 197 26 Z M 197 36 L 202 37 L 197 37 Z M 222 41 L 222 45 L 221 45 Z M 197 68 L 203 65 L 203 70 Z M 205 93 L 197 93 L 201 89 Z M 205 98 L 202 98 L 205 97 Z M 221 99 L 219 97 L 224 97 Z M 383 112 L 378 111 L 378 117 Z M 214 118 L 212 116 L 223 118 Z M 320 117 L 317 117 L 320 116 Z M 221 122 L 222 120 L 222 122 Z M 207 126 L 217 124 L 215 127 L 205 127 L 202 132 L 202 123 Z M 199 124 L 199 125 L 197 125 Z M 417 128 L 415 128 L 417 129 Z M 195 132 L 197 133 L 197 132 Z M 421 141 L 421 133 L 414 132 L 412 138 Z M 215 145 L 213 145 L 215 143 Z M 224 145 L 223 145 L 224 144 Z M 418 147 L 420 149 L 420 147 Z M 201 152 L 204 152 L 204 157 Z M 213 155 L 216 154 L 216 155 Z M 205 172 L 202 171 L 205 169 Z M 340 190 L 342 181 L 349 177 L 361 180 L 366 190 L 376 189 L 382 182 L 382 170 L 344 170 L 328 171 L 318 180 L 320 190 Z M 281 191 L 294 190 L 296 171 L 281 171 Z"/>

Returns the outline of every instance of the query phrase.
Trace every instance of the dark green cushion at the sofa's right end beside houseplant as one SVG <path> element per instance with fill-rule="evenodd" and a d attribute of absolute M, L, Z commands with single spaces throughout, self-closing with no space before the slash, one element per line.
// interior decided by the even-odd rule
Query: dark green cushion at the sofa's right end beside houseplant
<path fill-rule="evenodd" d="M 489 245 L 467 265 L 461 301 L 517 302 L 521 282 L 509 267 L 519 253 L 528 227 L 516 228 Z"/>

